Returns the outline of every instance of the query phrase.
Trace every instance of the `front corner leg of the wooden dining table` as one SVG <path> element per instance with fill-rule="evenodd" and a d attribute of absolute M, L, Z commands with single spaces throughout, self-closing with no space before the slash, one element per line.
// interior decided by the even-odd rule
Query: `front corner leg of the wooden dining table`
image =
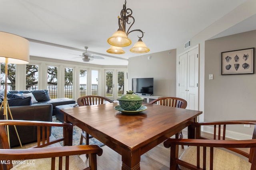
<path fill-rule="evenodd" d="M 122 170 L 140 170 L 140 154 L 136 152 L 122 152 Z"/>

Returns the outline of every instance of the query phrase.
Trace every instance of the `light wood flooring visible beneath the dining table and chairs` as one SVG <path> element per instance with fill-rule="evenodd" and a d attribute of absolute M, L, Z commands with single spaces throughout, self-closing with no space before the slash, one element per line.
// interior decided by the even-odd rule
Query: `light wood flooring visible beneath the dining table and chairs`
<path fill-rule="evenodd" d="M 187 138 L 187 128 L 183 131 L 183 138 Z M 52 135 L 53 136 L 53 135 Z M 207 137 L 207 134 L 204 134 Z M 34 144 L 29 144 L 23 146 L 23 148 L 29 148 L 34 146 Z M 58 145 L 57 145 L 58 146 Z M 19 147 L 18 147 L 19 148 Z M 186 149 L 187 146 L 184 146 Z M 110 149 L 106 145 L 102 147 L 102 156 L 97 156 L 97 166 L 98 170 L 121 170 L 122 167 L 122 157 L 120 154 Z M 179 155 L 185 150 L 179 147 Z M 88 159 L 85 155 L 80 155 L 82 160 L 88 164 Z M 141 170 L 169 170 L 170 167 L 170 148 L 165 148 L 163 143 L 149 150 L 141 156 L 140 169 Z"/>

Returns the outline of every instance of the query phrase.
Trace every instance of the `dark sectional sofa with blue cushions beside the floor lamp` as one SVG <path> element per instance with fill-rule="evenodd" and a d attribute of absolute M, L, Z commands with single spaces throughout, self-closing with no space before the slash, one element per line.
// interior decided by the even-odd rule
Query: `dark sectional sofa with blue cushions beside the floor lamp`
<path fill-rule="evenodd" d="M 0 98 L 4 98 L 4 90 L 0 90 Z M 17 120 L 52 121 L 56 106 L 76 103 L 69 98 L 50 99 L 48 90 L 12 90 L 8 91 L 7 98 L 13 119 Z M 8 117 L 10 119 L 10 115 Z M 0 109 L 0 119 L 4 119 L 3 108 Z M 37 140 L 37 127 L 16 127 L 22 144 Z M 20 143 L 15 129 L 10 126 L 10 146 L 18 145 Z"/>

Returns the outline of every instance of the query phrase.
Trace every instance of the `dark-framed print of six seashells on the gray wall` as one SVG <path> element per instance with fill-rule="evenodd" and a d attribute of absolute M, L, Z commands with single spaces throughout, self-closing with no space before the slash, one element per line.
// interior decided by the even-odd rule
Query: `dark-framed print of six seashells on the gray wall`
<path fill-rule="evenodd" d="M 254 48 L 221 53 L 221 75 L 254 74 Z"/>

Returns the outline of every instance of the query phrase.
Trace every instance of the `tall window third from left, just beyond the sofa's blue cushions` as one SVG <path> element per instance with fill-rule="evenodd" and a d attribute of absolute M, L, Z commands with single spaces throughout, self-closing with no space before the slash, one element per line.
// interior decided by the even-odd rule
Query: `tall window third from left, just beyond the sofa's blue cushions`
<path fill-rule="evenodd" d="M 48 80 L 47 88 L 49 90 L 50 98 L 55 99 L 57 96 L 57 85 L 58 85 L 58 68 L 48 66 Z"/>

